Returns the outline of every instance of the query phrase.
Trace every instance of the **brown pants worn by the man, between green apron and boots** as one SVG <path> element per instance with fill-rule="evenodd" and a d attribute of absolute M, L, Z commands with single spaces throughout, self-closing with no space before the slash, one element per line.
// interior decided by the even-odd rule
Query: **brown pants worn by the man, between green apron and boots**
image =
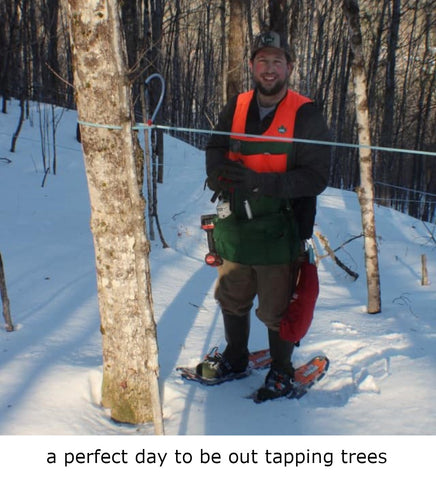
<path fill-rule="evenodd" d="M 218 267 L 215 298 L 223 313 L 243 316 L 250 312 L 256 295 L 256 315 L 270 329 L 278 331 L 288 307 L 298 261 L 286 265 L 241 265 L 224 260 Z"/>

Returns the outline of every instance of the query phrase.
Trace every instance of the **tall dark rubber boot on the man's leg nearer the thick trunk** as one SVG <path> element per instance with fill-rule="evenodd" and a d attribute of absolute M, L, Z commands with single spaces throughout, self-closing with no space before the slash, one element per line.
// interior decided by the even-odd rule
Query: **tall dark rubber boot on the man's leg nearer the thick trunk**
<path fill-rule="evenodd" d="M 223 357 L 235 372 L 242 372 L 248 366 L 248 338 L 250 335 L 250 315 L 238 316 L 223 313 L 227 347 Z"/>

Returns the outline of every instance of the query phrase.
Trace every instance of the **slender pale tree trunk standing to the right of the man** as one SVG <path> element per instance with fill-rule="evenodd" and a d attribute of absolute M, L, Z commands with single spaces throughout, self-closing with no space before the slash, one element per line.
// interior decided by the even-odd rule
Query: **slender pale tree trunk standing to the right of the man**
<path fill-rule="evenodd" d="M 350 29 L 351 49 L 354 55 L 352 70 L 356 102 L 356 119 L 360 157 L 360 186 L 357 189 L 362 212 L 362 227 L 365 244 L 365 266 L 368 286 L 368 313 L 381 311 L 380 274 L 378 268 L 377 237 L 374 217 L 374 184 L 372 178 L 372 156 L 367 82 L 362 51 L 362 35 L 357 0 L 344 0 L 344 12 Z"/>

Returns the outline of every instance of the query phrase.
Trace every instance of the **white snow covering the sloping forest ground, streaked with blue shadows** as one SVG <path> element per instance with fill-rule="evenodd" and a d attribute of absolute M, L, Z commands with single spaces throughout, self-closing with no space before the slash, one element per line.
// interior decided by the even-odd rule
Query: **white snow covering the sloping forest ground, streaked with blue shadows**
<path fill-rule="evenodd" d="M 16 331 L 0 331 L 0 433 L 152 434 L 151 425 L 114 423 L 100 406 L 99 312 L 76 113 L 62 115 L 56 135 L 58 171 L 42 188 L 36 106 L 16 153 L 9 152 L 16 102 L 10 102 L 9 111 L 0 116 L 0 157 L 11 160 L 0 160 L 0 252 Z M 216 271 L 203 261 L 207 245 L 199 219 L 215 208 L 203 183 L 204 154 L 166 136 L 158 211 L 170 248 L 163 249 L 156 234 L 150 256 L 166 434 L 432 438 L 436 245 L 421 221 L 388 208 L 376 207 L 381 313 L 366 312 L 362 238 L 337 252 L 359 274 L 356 281 L 328 256 L 319 264 L 315 318 L 294 354 L 296 364 L 317 353 L 330 359 L 328 374 L 310 394 L 256 405 L 245 397 L 262 383 L 264 371 L 209 388 L 179 377 L 177 365 L 193 366 L 212 346 L 224 345 L 213 298 Z M 427 227 L 435 232 L 434 225 Z M 315 230 L 333 248 L 359 235 L 356 195 L 327 189 L 319 198 Z M 324 255 L 316 239 L 315 244 Z M 422 254 L 428 286 L 421 285 Z M 265 327 L 253 314 L 250 348 L 265 346 Z"/>

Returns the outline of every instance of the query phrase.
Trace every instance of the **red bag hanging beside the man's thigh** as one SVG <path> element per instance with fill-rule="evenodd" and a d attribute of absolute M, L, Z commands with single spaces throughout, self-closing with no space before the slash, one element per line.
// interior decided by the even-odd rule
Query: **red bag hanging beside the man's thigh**
<path fill-rule="evenodd" d="M 280 336 L 284 340 L 297 343 L 306 335 L 318 295 L 318 270 L 306 257 L 300 267 L 298 285 L 280 323 Z"/>

